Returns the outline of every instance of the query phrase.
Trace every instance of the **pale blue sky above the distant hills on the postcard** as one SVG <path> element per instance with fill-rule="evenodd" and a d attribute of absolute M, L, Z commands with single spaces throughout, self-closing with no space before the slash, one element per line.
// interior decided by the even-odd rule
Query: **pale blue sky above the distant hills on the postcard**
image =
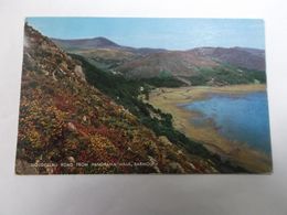
<path fill-rule="evenodd" d="M 264 21 L 258 19 L 28 18 L 26 22 L 49 37 L 104 36 L 132 47 L 265 49 Z"/>

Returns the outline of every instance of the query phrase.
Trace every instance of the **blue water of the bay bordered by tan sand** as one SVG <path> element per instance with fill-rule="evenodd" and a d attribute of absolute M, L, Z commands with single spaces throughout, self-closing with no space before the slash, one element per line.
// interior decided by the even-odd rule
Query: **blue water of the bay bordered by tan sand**
<path fill-rule="evenodd" d="M 270 133 L 266 93 L 241 96 L 210 95 L 185 108 L 201 115 L 191 120 L 198 127 L 213 122 L 219 132 L 230 140 L 269 153 Z"/>

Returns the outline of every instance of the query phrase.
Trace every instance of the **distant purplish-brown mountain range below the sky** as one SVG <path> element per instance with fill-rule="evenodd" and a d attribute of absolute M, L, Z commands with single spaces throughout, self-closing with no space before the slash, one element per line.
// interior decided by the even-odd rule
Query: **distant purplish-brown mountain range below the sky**
<path fill-rule="evenodd" d="M 52 41 L 67 52 L 85 56 L 98 67 L 121 73 L 129 78 L 150 78 L 162 74 L 190 77 L 198 75 L 201 68 L 216 68 L 221 65 L 265 71 L 265 51 L 257 49 L 196 47 L 169 51 L 121 46 L 105 37 Z"/>

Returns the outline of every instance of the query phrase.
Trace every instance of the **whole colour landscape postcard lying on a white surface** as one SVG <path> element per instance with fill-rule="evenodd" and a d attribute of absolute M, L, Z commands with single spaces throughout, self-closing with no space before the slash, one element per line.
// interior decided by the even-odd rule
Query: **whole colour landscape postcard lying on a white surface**
<path fill-rule="evenodd" d="M 263 20 L 23 24 L 17 174 L 272 172 Z"/>

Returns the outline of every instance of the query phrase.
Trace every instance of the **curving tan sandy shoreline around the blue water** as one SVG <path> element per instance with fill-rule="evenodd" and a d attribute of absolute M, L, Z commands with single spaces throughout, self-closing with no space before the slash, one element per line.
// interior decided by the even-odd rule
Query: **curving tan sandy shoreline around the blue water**
<path fill-rule="evenodd" d="M 184 104 L 206 99 L 210 94 L 227 94 L 230 96 L 265 92 L 266 85 L 233 85 L 223 87 L 195 86 L 180 88 L 157 88 L 149 95 L 147 103 L 169 112 L 173 117 L 173 126 L 192 140 L 202 142 L 211 152 L 230 159 L 233 163 L 252 172 L 270 172 L 270 154 L 252 149 L 238 141 L 231 141 L 221 136 L 214 125 L 196 127 L 190 122 L 199 112 L 187 110 Z"/>

